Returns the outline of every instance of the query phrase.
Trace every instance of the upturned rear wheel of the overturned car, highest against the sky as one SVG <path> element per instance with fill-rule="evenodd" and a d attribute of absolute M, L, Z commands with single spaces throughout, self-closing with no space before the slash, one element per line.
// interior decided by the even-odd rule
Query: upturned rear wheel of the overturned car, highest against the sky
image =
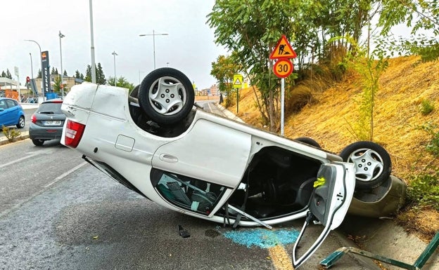
<path fill-rule="evenodd" d="M 191 112 L 195 93 L 186 75 L 163 67 L 145 77 L 138 98 L 140 107 L 152 121 L 170 125 L 182 121 Z"/>

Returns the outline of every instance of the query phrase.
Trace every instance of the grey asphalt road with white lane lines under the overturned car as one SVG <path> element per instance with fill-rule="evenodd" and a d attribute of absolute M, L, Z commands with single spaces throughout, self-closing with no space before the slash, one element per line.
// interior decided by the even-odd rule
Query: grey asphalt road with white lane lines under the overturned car
<path fill-rule="evenodd" d="M 293 269 L 293 243 L 261 248 L 228 238 L 222 224 L 167 210 L 84 163 L 80 154 L 30 140 L 0 146 L 0 269 Z M 299 231 L 303 220 L 273 231 Z M 182 238 L 177 226 L 191 236 Z M 308 229 L 304 252 L 321 226 Z M 263 241 L 276 241 L 264 236 Z M 330 234 L 300 269 L 341 247 Z M 369 269 L 344 256 L 337 269 Z"/>

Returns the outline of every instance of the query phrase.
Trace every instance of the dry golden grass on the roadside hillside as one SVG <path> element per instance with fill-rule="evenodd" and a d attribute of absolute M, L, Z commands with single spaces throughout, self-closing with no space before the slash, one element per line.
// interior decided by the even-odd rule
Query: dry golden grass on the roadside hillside
<path fill-rule="evenodd" d="M 312 104 L 286 117 L 285 136 L 312 137 L 324 149 L 336 153 L 355 142 L 349 130 L 359 115 L 357 101 L 360 100 L 361 89 L 357 86 L 357 79 L 351 74 L 340 83 L 332 83 L 326 90 L 312 90 Z M 428 121 L 439 124 L 439 62 L 423 63 L 415 56 L 391 59 L 379 83 L 375 101 L 374 141 L 388 150 L 393 174 L 409 184 L 413 175 L 433 166 L 439 167 L 438 158 L 433 158 L 425 150 L 431 135 L 416 129 Z M 316 83 L 309 81 L 309 84 Z M 301 85 L 307 85 L 307 82 Z M 240 95 L 238 116 L 247 123 L 263 128 L 253 89 L 243 89 Z M 423 100 L 435 106 L 433 112 L 425 116 L 420 112 Z M 228 109 L 236 113 L 236 104 Z M 439 214 L 428 208 L 421 209 L 421 212 L 407 208 L 398 215 L 397 221 L 407 230 L 421 231 L 426 238 L 439 231 Z"/>

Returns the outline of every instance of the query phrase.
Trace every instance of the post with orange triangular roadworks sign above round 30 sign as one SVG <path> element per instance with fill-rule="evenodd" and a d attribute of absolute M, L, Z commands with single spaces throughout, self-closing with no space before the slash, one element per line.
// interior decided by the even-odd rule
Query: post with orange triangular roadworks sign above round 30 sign
<path fill-rule="evenodd" d="M 284 136 L 284 112 L 285 112 L 285 78 L 293 72 L 293 64 L 290 58 L 296 58 L 297 55 L 285 35 L 282 35 L 277 41 L 276 47 L 270 55 L 270 59 L 277 61 L 274 63 L 273 71 L 276 76 L 281 78 L 281 135 Z"/>

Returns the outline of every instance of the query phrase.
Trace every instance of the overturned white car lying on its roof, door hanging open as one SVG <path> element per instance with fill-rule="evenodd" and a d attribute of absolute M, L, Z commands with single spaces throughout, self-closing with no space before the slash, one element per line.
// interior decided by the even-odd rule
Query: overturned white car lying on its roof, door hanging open
<path fill-rule="evenodd" d="M 193 105 L 191 81 L 171 68 L 155 69 L 131 95 L 82 83 L 61 107 L 67 116 L 61 143 L 129 189 L 186 215 L 234 227 L 271 228 L 307 216 L 304 230 L 320 222 L 324 232 L 294 257 L 295 267 L 341 224 L 351 201 L 358 215 L 361 208 L 379 217 L 400 207 L 405 184 L 390 176 L 390 156 L 378 144 L 350 144 L 338 156 L 310 138 L 289 140 Z M 389 201 L 396 203 L 376 207 Z"/>

